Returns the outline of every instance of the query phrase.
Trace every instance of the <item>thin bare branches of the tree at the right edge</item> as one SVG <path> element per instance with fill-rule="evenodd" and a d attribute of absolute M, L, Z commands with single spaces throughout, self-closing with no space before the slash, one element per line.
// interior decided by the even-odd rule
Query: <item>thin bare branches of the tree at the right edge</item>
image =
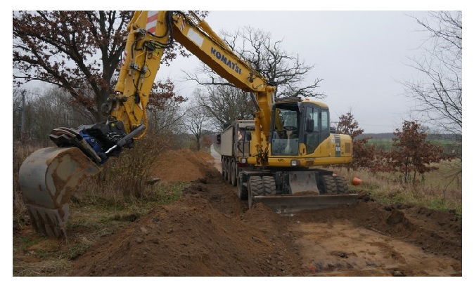
<path fill-rule="evenodd" d="M 406 95 L 418 101 L 416 111 L 440 133 L 462 133 L 462 13 L 433 11 L 415 18 L 430 33 L 425 55 L 411 60 L 421 79 L 406 81 Z"/>

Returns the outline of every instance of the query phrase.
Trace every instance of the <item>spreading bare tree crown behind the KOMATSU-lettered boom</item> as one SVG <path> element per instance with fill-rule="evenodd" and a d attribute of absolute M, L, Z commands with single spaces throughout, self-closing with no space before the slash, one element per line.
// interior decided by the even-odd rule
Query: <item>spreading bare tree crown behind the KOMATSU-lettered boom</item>
<path fill-rule="evenodd" d="M 307 75 L 314 65 L 305 65 L 299 55 L 290 55 L 283 50 L 283 40 L 273 41 L 271 34 L 260 29 L 245 27 L 234 34 L 222 32 L 226 44 L 243 60 L 262 74 L 271 84 L 276 84 L 276 96 L 304 96 L 325 98 L 324 93 L 316 89 L 322 79 L 305 86 Z M 252 119 L 255 106 L 250 94 L 236 88 L 229 81 L 219 77 L 204 63 L 197 71 L 186 72 L 188 80 L 204 86 L 198 95 L 200 105 L 214 118 L 217 128 L 224 128 L 234 119 Z"/>

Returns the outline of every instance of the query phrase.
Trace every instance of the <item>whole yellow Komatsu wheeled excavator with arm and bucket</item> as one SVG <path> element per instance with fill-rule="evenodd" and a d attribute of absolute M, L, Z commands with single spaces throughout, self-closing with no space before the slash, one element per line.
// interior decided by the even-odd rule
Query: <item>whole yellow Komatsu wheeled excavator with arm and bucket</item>
<path fill-rule="evenodd" d="M 49 137 L 57 147 L 33 152 L 20 167 L 20 189 L 34 230 L 65 237 L 70 196 L 79 181 L 101 171 L 109 157 L 131 149 L 134 140 L 145 136 L 150 90 L 163 53 L 175 41 L 231 84 L 252 94 L 255 118 L 243 129 L 248 137 L 241 143 L 249 149 L 226 159 L 223 168 L 223 172 L 233 169 L 233 175 L 237 174 L 239 196 L 249 199 L 250 207 L 263 202 L 317 209 L 322 204 L 354 202 L 343 178 L 314 168 L 352 160 L 352 139 L 330 131 L 326 105 L 301 98 L 274 98 L 275 86 L 193 12 L 136 11 L 127 30 L 115 91 L 101 107 L 107 120 L 53 129 Z"/>

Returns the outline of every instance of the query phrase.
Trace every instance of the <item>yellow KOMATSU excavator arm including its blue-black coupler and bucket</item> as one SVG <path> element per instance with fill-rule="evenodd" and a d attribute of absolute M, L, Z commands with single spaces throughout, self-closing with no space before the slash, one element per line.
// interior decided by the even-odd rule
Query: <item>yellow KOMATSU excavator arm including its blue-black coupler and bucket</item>
<path fill-rule="evenodd" d="M 268 138 L 275 87 L 226 46 L 207 22 L 192 12 L 136 11 L 127 30 L 115 90 L 101 106 L 107 120 L 53 129 L 49 137 L 57 147 L 37 150 L 20 167 L 23 201 L 34 229 L 44 235 L 65 237 L 76 185 L 101 171 L 109 157 L 132 148 L 134 140 L 145 136 L 153 81 L 163 53 L 175 41 L 231 84 L 254 94 L 257 150 L 264 150 L 260 132 Z"/>

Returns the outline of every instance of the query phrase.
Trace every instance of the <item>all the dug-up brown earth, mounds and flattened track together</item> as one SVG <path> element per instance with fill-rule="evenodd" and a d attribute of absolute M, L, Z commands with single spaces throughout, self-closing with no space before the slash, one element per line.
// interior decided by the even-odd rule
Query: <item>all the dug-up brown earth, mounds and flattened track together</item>
<path fill-rule="evenodd" d="M 203 152 L 169 152 L 161 180 L 194 180 L 174 204 L 102 237 L 72 276 L 461 276 L 454 213 L 383 205 L 281 216 L 248 210 Z M 219 161 L 219 160 L 218 160 Z"/>

